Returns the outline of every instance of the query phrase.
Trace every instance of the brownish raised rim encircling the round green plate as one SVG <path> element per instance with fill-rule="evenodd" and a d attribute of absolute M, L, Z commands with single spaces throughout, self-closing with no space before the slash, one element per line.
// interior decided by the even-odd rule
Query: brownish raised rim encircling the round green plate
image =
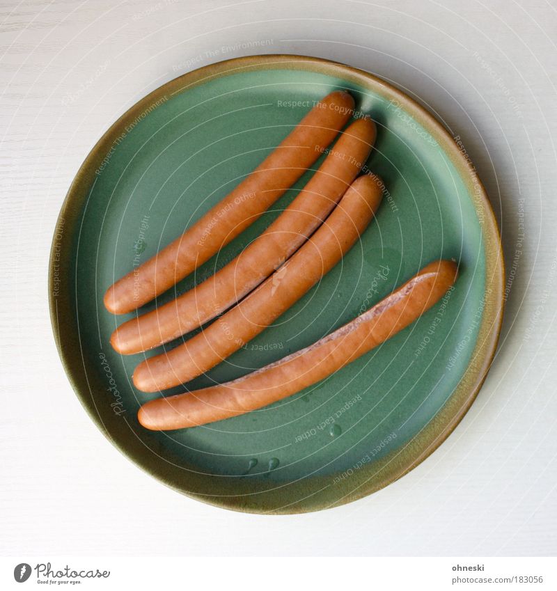
<path fill-rule="evenodd" d="M 60 246 L 57 243 L 56 238 L 58 228 L 60 226 L 65 226 L 66 221 L 70 216 L 75 217 L 75 210 L 79 210 L 79 207 L 82 205 L 84 199 L 78 199 L 82 193 L 80 189 L 84 186 L 89 187 L 91 185 L 91 178 L 93 175 L 93 167 L 91 164 L 99 157 L 101 150 L 104 150 L 107 145 L 112 145 L 113 141 L 111 141 L 111 139 L 114 138 L 114 132 L 123 129 L 128 120 L 133 120 L 138 114 L 141 114 L 142 109 L 145 109 L 146 106 L 156 102 L 163 96 L 182 92 L 187 88 L 193 88 L 199 84 L 204 84 L 205 82 L 210 81 L 210 79 L 217 77 L 225 77 L 246 70 L 253 71 L 265 69 L 313 70 L 314 72 L 354 81 L 364 88 L 366 88 L 366 86 L 373 86 L 375 92 L 384 94 L 385 97 L 395 97 L 400 103 L 400 106 L 409 112 L 424 129 L 430 132 L 432 137 L 436 139 L 437 143 L 439 143 L 441 149 L 460 173 L 471 203 L 476 210 L 476 214 L 478 214 L 480 219 L 483 220 L 483 222 L 480 222 L 480 228 L 485 249 L 485 283 L 487 288 L 486 292 L 489 291 L 490 294 L 489 298 L 485 297 L 484 294 L 484 313 L 480 322 L 476 344 L 471 355 L 471 361 L 466 367 L 459 385 L 455 388 L 441 409 L 439 409 L 437 414 L 432 420 L 430 420 L 430 423 L 427 423 L 427 425 L 423 427 L 423 430 L 414 435 L 414 437 L 412 437 L 402 448 L 402 451 L 398 451 L 396 454 L 390 452 L 382 460 L 372 462 L 368 466 L 363 466 L 359 471 L 359 478 L 357 480 L 351 478 L 348 481 L 352 484 L 352 490 L 342 498 L 336 497 L 333 501 L 327 502 L 322 500 L 315 501 L 315 499 L 310 496 L 307 502 L 302 505 L 297 503 L 269 510 L 262 510 L 260 505 L 251 505 L 249 502 L 246 503 L 245 499 L 243 501 L 238 501 L 236 496 L 214 497 L 187 491 L 183 487 L 165 479 L 162 473 L 157 473 L 155 470 L 146 466 L 146 462 L 142 461 L 141 456 L 136 454 L 133 450 L 129 450 L 125 448 L 125 446 L 120 445 L 118 441 L 113 439 L 106 425 L 104 425 L 100 416 L 98 416 L 98 413 L 95 411 L 94 404 L 92 404 L 91 397 L 89 397 L 89 395 L 92 394 L 91 390 L 88 391 L 88 393 L 82 392 L 82 386 L 77 383 L 77 379 L 73 375 L 73 363 L 69 358 L 68 352 L 63 347 L 61 338 L 60 322 L 58 320 L 58 296 L 54 295 L 54 285 L 57 280 L 56 263 L 64 260 L 59 253 L 61 253 L 63 249 L 70 253 L 72 250 L 68 246 L 68 240 L 65 241 L 65 247 L 63 245 Z M 172 92 L 170 92 L 171 89 L 173 90 Z M 474 197 L 476 197 L 476 199 Z M 73 212 L 71 211 L 72 209 L 74 210 Z M 69 214 L 67 213 L 68 210 L 70 210 Z M 480 214 L 482 215 L 480 216 Z M 453 136 L 448 132 L 446 127 L 444 127 L 444 125 L 437 120 L 432 113 L 430 113 L 430 111 L 427 111 L 425 107 L 409 97 L 409 95 L 402 90 L 396 88 L 384 79 L 377 77 L 375 74 L 366 72 L 366 70 L 313 56 L 297 54 L 258 54 L 230 58 L 205 65 L 196 70 L 185 72 L 185 74 L 181 74 L 180 76 L 165 82 L 142 97 L 132 105 L 130 109 L 127 109 L 127 111 L 120 115 L 102 134 L 79 167 L 79 170 L 70 184 L 56 219 L 49 255 L 49 315 L 58 356 L 61 359 L 66 377 L 68 377 L 74 393 L 77 395 L 81 405 L 87 411 L 88 415 L 91 417 L 95 425 L 97 425 L 102 434 L 104 434 L 112 445 L 122 452 L 127 459 L 153 478 L 159 480 L 159 482 L 180 492 L 180 494 L 195 498 L 198 501 L 203 501 L 210 505 L 249 513 L 297 514 L 337 507 L 368 496 L 369 494 L 388 486 L 392 482 L 395 482 L 395 480 L 402 478 L 402 476 L 416 468 L 418 464 L 421 464 L 421 462 L 429 457 L 434 450 L 441 446 L 441 443 L 443 443 L 455 430 L 455 427 L 457 427 L 462 418 L 464 418 L 469 411 L 474 400 L 476 400 L 478 392 L 483 386 L 489 368 L 492 365 L 503 322 L 503 311 L 505 308 L 504 282 L 505 265 L 501 237 L 494 210 L 487 197 L 485 187 L 478 177 L 476 168 L 473 166 L 469 156 L 464 156 Z M 437 429 L 435 428 L 436 425 Z M 441 427 L 439 427 L 439 425 L 441 425 Z M 408 459 L 409 455 L 413 455 L 411 461 L 401 461 L 398 459 L 398 456 L 407 448 L 416 448 L 419 450 L 419 453 L 415 454 L 411 451 L 407 452 L 403 455 L 402 460 Z M 389 468 L 389 464 L 393 465 Z M 389 469 L 384 471 L 382 478 L 374 478 L 372 480 L 372 476 L 366 478 L 372 466 L 375 473 L 383 471 L 384 468 Z M 368 469 L 366 469 L 366 467 Z M 354 487 L 354 482 L 360 482 L 360 484 L 357 487 Z"/>

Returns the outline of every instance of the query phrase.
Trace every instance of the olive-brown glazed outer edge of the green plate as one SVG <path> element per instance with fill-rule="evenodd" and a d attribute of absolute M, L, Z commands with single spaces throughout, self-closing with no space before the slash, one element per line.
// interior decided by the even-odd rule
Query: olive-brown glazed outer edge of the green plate
<path fill-rule="evenodd" d="M 63 265 L 71 259 L 72 244 L 69 240 L 63 239 L 63 234 L 65 228 L 72 227 L 72 223 L 77 221 L 81 205 L 86 201 L 88 189 L 91 187 L 95 171 L 94 164 L 102 160 L 106 154 L 107 145 L 111 145 L 118 137 L 118 130 L 132 122 L 143 109 L 164 95 L 178 93 L 216 77 L 264 69 L 309 70 L 336 76 L 359 84 L 363 88 L 372 88 L 375 93 L 384 95 L 389 100 L 398 101 L 400 107 L 411 113 L 416 121 L 441 145 L 450 161 L 462 175 L 469 194 L 474 196 L 473 205 L 478 213 L 478 218 L 483 220 L 482 239 L 486 258 L 483 317 L 480 322 L 476 347 L 473 349 L 471 361 L 459 385 L 421 432 L 418 432 L 402 448 L 393 450 L 377 462 L 364 465 L 357 473 L 354 472 L 350 480 L 347 480 L 350 483 L 350 489 L 344 491 L 344 494 L 340 496 L 337 487 L 334 487 L 333 492 L 333 489 L 323 482 L 323 486 L 320 488 L 320 477 L 312 479 L 312 489 L 317 487 L 317 492 L 306 488 L 304 482 L 297 482 L 295 489 L 292 490 L 290 487 L 288 493 L 278 485 L 272 491 L 265 491 L 265 493 L 255 496 L 223 495 L 218 491 L 212 496 L 197 494 L 185 489 L 183 471 L 168 470 L 168 466 L 164 466 L 162 459 L 159 459 L 155 453 L 151 453 L 146 448 L 141 453 L 141 446 L 138 451 L 131 452 L 128 446 L 118 438 L 118 429 L 122 428 L 122 423 L 108 424 L 110 418 L 109 420 L 107 417 L 105 420 L 102 419 L 88 384 L 86 372 L 80 372 L 79 375 L 75 375 L 74 372 L 74 368 L 80 365 L 85 369 L 79 333 L 72 333 L 72 331 L 65 329 L 65 326 L 70 325 L 72 320 L 72 301 L 70 294 L 62 293 L 60 285 L 63 282 Z M 120 116 L 89 152 L 68 189 L 52 240 L 48 284 L 52 329 L 63 368 L 81 404 L 101 432 L 107 436 L 107 439 L 137 466 L 182 494 L 229 510 L 262 514 L 296 514 L 350 503 L 395 482 L 423 462 L 453 432 L 476 399 L 496 353 L 504 308 L 503 253 L 494 212 L 485 188 L 477 178 L 469 159 L 464 156 L 445 127 L 418 102 L 373 74 L 321 58 L 288 54 L 233 58 L 187 72 L 153 90 L 152 93 L 136 102 L 133 107 Z M 130 425 L 127 426 L 131 429 Z M 328 482 L 330 484 L 330 478 Z M 265 495 L 264 500 L 261 498 L 258 498 L 257 501 L 254 500 L 262 494 Z"/>

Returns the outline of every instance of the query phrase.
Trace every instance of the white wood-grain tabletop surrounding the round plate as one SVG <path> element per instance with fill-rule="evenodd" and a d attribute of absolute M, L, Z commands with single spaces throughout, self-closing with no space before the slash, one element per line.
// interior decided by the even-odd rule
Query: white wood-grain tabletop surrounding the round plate
<path fill-rule="evenodd" d="M 555 555 L 551 4 L 1 1 L 0 553 Z M 102 132 L 178 74 L 256 53 L 341 61 L 425 104 L 476 163 L 512 271 L 499 353 L 448 441 L 377 494 L 292 517 L 191 501 L 120 455 L 68 384 L 47 306 L 58 210 Z"/>

